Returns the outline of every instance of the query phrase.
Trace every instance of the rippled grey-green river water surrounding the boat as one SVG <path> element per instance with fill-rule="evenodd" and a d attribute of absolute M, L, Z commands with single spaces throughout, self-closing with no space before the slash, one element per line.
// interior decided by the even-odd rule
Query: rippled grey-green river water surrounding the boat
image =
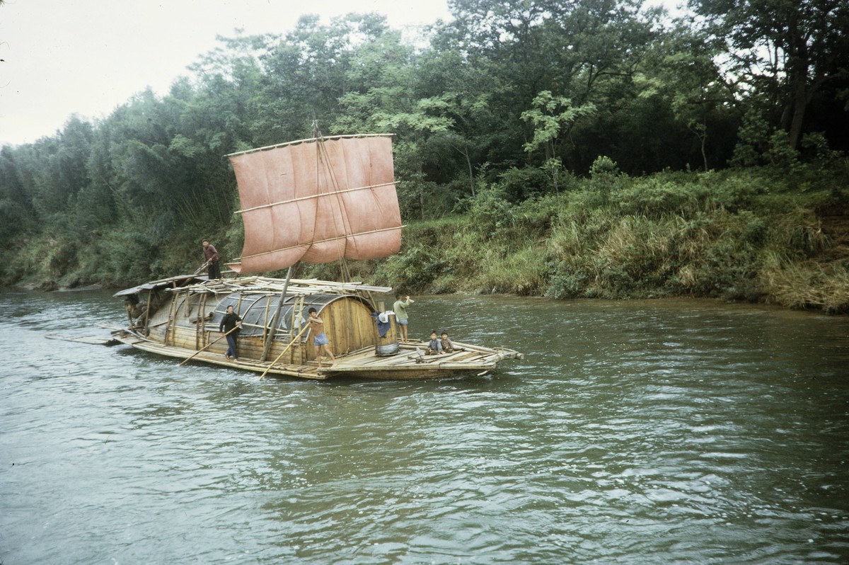
<path fill-rule="evenodd" d="M 418 297 L 526 359 L 315 382 L 48 338 L 104 291 L 0 307 L 3 565 L 849 561 L 846 317 Z"/>

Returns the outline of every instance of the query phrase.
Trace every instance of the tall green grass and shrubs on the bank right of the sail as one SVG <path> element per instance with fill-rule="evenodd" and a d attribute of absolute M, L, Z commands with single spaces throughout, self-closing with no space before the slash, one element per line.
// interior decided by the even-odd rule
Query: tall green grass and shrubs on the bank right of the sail
<path fill-rule="evenodd" d="M 575 181 L 571 192 L 520 204 L 498 185 L 481 190 L 468 215 L 410 226 L 404 256 L 378 273 L 418 291 L 686 295 L 846 311 L 846 263 L 817 262 L 834 250 L 815 212 L 833 189 L 801 195 L 757 171 L 620 176 L 603 194 L 598 184 Z"/>

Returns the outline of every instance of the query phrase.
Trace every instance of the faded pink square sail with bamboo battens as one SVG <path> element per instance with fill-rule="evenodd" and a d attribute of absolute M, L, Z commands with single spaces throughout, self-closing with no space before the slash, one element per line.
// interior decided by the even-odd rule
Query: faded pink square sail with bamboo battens
<path fill-rule="evenodd" d="M 228 155 L 245 223 L 237 273 L 401 249 L 390 135 L 314 138 Z"/>

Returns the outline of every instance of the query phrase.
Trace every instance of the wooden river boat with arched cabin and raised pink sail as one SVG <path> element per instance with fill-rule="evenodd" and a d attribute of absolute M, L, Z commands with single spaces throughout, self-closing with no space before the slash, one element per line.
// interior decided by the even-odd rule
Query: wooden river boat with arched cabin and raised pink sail
<path fill-rule="evenodd" d="M 391 134 L 323 137 L 316 130 L 312 138 L 227 156 L 245 225 L 241 257 L 222 279 L 196 272 L 116 292 L 127 325 L 113 329 L 115 340 L 181 364 L 315 380 L 484 375 L 504 359 L 522 359 L 512 349 L 464 342 L 454 342 L 452 353 L 426 355 L 426 343 L 401 341 L 381 300 L 390 287 L 294 278 L 301 262 L 338 261 L 347 273 L 347 261 L 400 251 Z M 264 276 L 284 269 L 285 278 Z M 238 359 L 225 355 L 220 331 L 228 306 L 242 319 Z M 335 354 L 330 364 L 318 363 L 311 308 Z"/>

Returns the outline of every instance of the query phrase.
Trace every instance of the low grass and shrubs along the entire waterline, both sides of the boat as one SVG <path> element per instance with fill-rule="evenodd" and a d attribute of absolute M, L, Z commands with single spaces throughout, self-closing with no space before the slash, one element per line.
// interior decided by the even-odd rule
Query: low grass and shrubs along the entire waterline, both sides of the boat
<path fill-rule="evenodd" d="M 849 169 L 846 161 L 833 164 Z M 507 184 L 481 187 L 462 214 L 408 223 L 398 255 L 346 268 L 355 280 L 419 294 L 707 297 L 846 314 L 847 177 L 797 165 L 793 174 L 761 167 L 632 178 L 602 158 L 557 195 L 512 203 Z M 231 225 L 217 240 L 224 257 L 237 257 L 238 229 Z M 3 283 L 117 288 L 200 264 L 192 234 L 158 246 L 149 269 L 121 251 L 135 246 L 132 234 L 92 235 L 20 241 L 2 253 Z M 335 280 L 340 265 L 302 265 L 298 276 Z"/>

